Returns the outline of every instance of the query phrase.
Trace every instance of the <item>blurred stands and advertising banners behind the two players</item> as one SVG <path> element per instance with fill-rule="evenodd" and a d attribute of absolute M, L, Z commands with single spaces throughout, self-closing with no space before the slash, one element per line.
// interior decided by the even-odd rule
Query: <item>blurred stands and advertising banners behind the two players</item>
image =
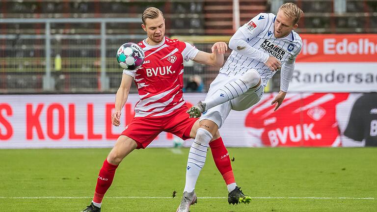
<path fill-rule="evenodd" d="M 133 106 L 138 101 L 133 84 L 123 113 L 124 126 L 112 129 L 107 115 L 111 114 L 122 77 L 115 53 L 123 43 L 145 38 L 140 26 L 145 8 L 155 6 L 162 10 L 166 36 L 210 52 L 214 42 L 228 42 L 238 27 L 260 12 L 276 14 L 285 2 L 288 1 L 1 0 L 0 94 L 8 95 L 0 96 L 0 138 L 9 142 L 0 148 L 27 147 L 24 144 L 28 140 L 44 140 L 43 147 L 56 147 L 54 140 L 82 141 L 78 147 L 93 147 L 99 143 L 87 141 L 103 140 L 102 146 L 111 146 L 117 133 L 132 119 Z M 296 29 L 303 47 L 286 99 L 288 111 L 263 110 L 270 109 L 267 105 L 273 92 L 279 91 L 278 72 L 255 109 L 228 118 L 228 125 L 222 130 L 225 138 L 229 136 L 226 144 L 364 146 L 366 139 L 371 139 L 369 144 L 377 145 L 377 103 L 359 104 L 368 105 L 367 109 L 354 106 L 361 96 L 361 102 L 377 99 L 377 0 L 290 2 L 302 8 L 304 17 Z M 189 104 L 205 97 L 218 70 L 219 67 L 193 62 L 185 64 L 184 90 L 196 93 L 185 96 Z M 96 96 L 75 95 L 82 93 Z M 93 113 L 95 116 L 91 117 Z M 366 121 L 353 121 L 365 129 L 350 126 L 354 135 L 349 133 L 348 138 L 352 139 L 348 141 L 342 137 L 352 117 L 366 117 Z M 236 139 L 240 143 L 232 141 L 235 130 L 240 131 L 241 137 Z M 171 146 L 173 136 L 162 135 L 158 139 L 167 139 L 160 144 Z M 69 143 L 62 147 L 70 145 L 75 146 Z"/>

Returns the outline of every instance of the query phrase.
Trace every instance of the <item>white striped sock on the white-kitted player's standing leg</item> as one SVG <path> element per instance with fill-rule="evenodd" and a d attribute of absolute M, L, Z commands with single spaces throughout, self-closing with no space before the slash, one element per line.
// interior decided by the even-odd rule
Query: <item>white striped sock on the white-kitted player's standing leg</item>
<path fill-rule="evenodd" d="M 212 139 L 212 134 L 203 128 L 196 131 L 195 140 L 191 145 L 187 159 L 186 184 L 184 192 L 192 192 L 195 189 L 200 171 L 207 157 L 207 147 Z"/>

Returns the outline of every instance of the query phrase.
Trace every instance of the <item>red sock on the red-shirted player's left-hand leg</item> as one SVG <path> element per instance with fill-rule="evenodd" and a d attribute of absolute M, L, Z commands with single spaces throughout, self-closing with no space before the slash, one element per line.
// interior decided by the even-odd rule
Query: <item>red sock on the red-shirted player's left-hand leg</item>
<path fill-rule="evenodd" d="M 100 173 L 98 174 L 96 192 L 94 192 L 93 202 L 102 203 L 102 199 L 105 196 L 106 191 L 110 187 L 112 180 L 114 179 L 115 170 L 118 165 L 113 165 L 105 159 Z"/>

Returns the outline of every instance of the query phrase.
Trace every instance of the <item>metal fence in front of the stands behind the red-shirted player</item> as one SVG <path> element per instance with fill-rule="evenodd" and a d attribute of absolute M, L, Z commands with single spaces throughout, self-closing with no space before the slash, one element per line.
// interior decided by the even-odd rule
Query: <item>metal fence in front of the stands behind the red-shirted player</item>
<path fill-rule="evenodd" d="M 0 19 L 0 24 L 21 22 L 39 23 L 45 27 L 40 31 L 43 34 L 0 35 L 1 93 L 115 92 L 122 77 L 115 60 L 117 49 L 123 43 L 145 38 L 145 34 L 108 34 L 109 23 L 141 24 L 136 18 Z M 72 26 L 64 31 L 58 29 L 62 23 L 88 24 L 94 29 L 100 25 L 100 30 L 98 33 L 76 33 L 78 29 Z M 94 29 L 89 31 L 95 32 Z M 207 52 L 212 44 L 195 43 L 198 49 Z M 199 75 L 205 90 L 219 68 L 194 63 L 185 66 L 185 82 L 190 76 Z M 135 86 L 131 92 L 136 92 Z"/>

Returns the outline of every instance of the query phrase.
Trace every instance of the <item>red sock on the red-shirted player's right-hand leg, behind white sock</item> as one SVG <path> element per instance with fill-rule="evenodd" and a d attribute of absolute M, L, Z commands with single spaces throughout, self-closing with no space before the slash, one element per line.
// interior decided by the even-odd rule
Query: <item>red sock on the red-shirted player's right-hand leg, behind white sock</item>
<path fill-rule="evenodd" d="M 228 150 L 226 150 L 222 138 L 219 137 L 216 140 L 210 142 L 212 157 L 215 160 L 216 167 L 220 171 L 222 178 L 226 185 L 235 183 L 232 165 L 230 164 L 230 158 Z"/>

